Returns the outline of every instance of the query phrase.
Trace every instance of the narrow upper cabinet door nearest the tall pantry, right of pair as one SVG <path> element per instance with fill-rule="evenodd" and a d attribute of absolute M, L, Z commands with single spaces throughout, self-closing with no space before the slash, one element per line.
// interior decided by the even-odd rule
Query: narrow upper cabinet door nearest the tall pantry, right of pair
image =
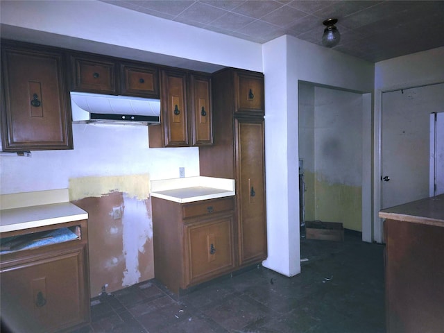
<path fill-rule="evenodd" d="M 190 76 L 191 140 L 193 146 L 213 144 L 211 78 Z"/>

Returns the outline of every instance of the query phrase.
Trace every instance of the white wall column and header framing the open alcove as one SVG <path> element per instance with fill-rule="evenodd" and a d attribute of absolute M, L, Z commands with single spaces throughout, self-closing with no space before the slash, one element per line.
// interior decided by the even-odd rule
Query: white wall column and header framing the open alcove
<path fill-rule="evenodd" d="M 264 266 L 291 276 L 300 273 L 298 81 L 372 92 L 374 67 L 370 62 L 291 36 L 272 40 L 264 44 L 263 50 L 268 223 L 268 259 Z M 271 151 L 273 154 L 267 153 Z"/>

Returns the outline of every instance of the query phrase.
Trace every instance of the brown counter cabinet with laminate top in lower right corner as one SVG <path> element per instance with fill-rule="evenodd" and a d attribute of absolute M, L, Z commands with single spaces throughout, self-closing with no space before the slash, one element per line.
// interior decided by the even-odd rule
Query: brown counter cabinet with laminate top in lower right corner
<path fill-rule="evenodd" d="M 444 194 L 379 212 L 384 221 L 386 331 L 443 332 Z"/>

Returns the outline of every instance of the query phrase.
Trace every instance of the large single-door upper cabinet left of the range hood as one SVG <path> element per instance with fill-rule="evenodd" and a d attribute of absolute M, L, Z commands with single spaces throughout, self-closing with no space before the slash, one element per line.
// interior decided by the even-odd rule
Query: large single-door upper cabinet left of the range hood
<path fill-rule="evenodd" d="M 65 66 L 57 49 L 2 41 L 3 151 L 73 148 Z"/>

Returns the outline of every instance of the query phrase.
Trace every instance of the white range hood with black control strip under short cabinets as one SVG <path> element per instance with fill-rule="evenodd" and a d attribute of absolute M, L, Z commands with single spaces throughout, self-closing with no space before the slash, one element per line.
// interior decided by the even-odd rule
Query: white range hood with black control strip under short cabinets
<path fill-rule="evenodd" d="M 71 110 L 73 123 L 160 123 L 159 99 L 71 92 Z"/>

